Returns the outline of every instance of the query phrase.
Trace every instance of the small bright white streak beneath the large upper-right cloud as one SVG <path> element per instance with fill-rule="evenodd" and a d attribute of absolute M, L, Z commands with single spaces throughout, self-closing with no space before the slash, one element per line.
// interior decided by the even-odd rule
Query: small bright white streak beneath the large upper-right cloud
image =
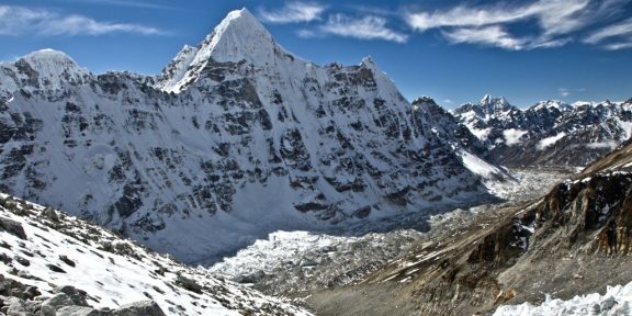
<path fill-rule="evenodd" d="M 474 29 L 454 29 L 443 32 L 451 43 L 470 43 L 496 46 L 511 50 L 524 48 L 526 40 L 515 38 L 501 26 L 493 25 Z"/>

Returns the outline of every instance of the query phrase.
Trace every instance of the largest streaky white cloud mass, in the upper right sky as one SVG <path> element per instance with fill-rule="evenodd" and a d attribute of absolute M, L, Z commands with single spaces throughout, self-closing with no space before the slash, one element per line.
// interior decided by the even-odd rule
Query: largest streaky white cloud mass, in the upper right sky
<path fill-rule="evenodd" d="M 539 0 L 516 5 L 497 2 L 493 5 L 458 5 L 444 11 L 409 12 L 405 20 L 419 32 L 442 30 L 451 43 L 472 43 L 505 49 L 558 47 L 573 41 L 576 32 L 603 18 L 613 16 L 630 0 Z M 515 2 L 514 2 L 515 3 Z M 531 34 L 520 36 L 508 32 L 511 24 L 534 21 Z"/>

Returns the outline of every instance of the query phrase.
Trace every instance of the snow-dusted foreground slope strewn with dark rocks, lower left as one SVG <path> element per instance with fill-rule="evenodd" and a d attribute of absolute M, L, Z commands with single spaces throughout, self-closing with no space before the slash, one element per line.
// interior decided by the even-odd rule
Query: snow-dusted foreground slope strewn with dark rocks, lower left
<path fill-rule="evenodd" d="M 8 315 L 311 315 L 50 207 L 0 198 L 0 311 L 25 311 Z M 72 311 L 55 312 L 64 306 Z"/>

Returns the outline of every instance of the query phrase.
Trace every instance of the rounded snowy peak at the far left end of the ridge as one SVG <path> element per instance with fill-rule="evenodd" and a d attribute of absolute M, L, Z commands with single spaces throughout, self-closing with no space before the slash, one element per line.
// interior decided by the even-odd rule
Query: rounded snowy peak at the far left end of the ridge
<path fill-rule="evenodd" d="M 14 63 L 0 64 L 0 97 L 24 89 L 25 91 L 58 91 L 65 86 L 89 82 L 93 77 L 79 67 L 68 55 L 42 49 L 31 53 Z"/>

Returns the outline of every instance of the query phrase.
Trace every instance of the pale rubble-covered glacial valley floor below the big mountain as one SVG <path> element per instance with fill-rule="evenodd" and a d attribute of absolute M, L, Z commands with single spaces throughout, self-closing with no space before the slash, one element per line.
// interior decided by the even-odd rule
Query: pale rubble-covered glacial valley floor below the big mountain
<path fill-rule="evenodd" d="M 375 291 L 371 286 L 368 293 L 358 292 L 358 287 L 351 292 L 343 290 L 342 292 L 339 290 L 328 292 L 328 289 L 345 289 L 345 285 L 356 284 L 395 258 L 404 256 L 413 247 L 452 232 L 456 227 L 494 221 L 500 207 L 516 205 L 543 195 L 554 183 L 571 177 L 574 170 L 517 169 L 512 171 L 515 181 L 486 182 L 490 192 L 505 200 L 500 204 L 483 204 L 466 210 L 456 208 L 425 217 L 407 214 L 393 221 L 408 228 L 368 233 L 360 236 L 345 236 L 338 232 L 336 234 L 276 232 L 270 234 L 268 239 L 257 240 L 234 257 L 225 258 L 208 269 L 217 276 L 249 284 L 263 293 L 292 297 L 298 304 L 313 308 L 317 315 L 353 315 L 352 305 L 360 300 L 356 296 L 372 298 L 360 300 L 362 302 L 384 302 L 386 298 L 381 295 L 388 295 L 390 286 L 398 285 L 388 284 L 381 287 L 381 291 Z M 409 222 L 418 222 L 422 225 L 410 225 Z M 335 303 L 330 301 L 331 297 L 328 297 L 331 293 L 335 293 Z M 371 295 L 376 296 L 371 297 Z M 332 307 L 342 305 L 349 305 L 346 306 L 349 307 L 349 313 L 340 314 L 340 311 L 347 309 Z M 391 304 L 388 306 L 394 307 Z M 379 311 L 379 308 L 375 309 L 375 315 L 383 315 Z M 402 315 L 407 315 L 404 309 L 402 311 Z"/>

